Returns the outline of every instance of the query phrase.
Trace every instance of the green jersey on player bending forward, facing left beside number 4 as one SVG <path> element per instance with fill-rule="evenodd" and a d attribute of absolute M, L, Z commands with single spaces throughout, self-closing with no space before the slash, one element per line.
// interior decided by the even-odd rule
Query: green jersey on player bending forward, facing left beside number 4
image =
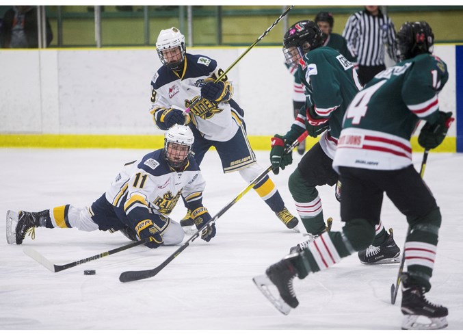
<path fill-rule="evenodd" d="M 297 75 L 304 84 L 306 103 L 291 125 L 290 132 L 297 138 L 306 127 L 311 126 L 311 118 L 329 118 L 328 131 L 322 134 L 319 142 L 326 155 L 333 158 L 345 110 L 362 88 L 357 72 L 338 51 L 319 47 L 302 57 Z M 315 115 L 310 116 L 309 109 Z"/>

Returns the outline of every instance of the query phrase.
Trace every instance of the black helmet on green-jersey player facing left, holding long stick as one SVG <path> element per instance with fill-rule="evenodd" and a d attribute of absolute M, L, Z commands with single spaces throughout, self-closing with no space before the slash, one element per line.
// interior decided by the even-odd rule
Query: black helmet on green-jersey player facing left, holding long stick
<path fill-rule="evenodd" d="M 321 47 L 325 39 L 326 36 L 313 21 L 304 20 L 291 25 L 283 36 L 283 53 L 287 63 L 297 64 L 305 53 Z"/>

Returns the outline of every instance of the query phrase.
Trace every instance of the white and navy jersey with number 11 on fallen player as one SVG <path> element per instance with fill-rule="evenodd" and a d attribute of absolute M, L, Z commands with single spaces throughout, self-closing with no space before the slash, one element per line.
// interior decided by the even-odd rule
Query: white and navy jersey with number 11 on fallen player
<path fill-rule="evenodd" d="M 163 149 L 159 149 L 125 164 L 107 190 L 106 199 L 115 207 L 123 207 L 136 224 L 148 213 L 168 216 L 180 196 L 189 208 L 202 206 L 204 187 L 194 158 L 189 158 L 182 172 L 176 172 L 164 159 Z"/>

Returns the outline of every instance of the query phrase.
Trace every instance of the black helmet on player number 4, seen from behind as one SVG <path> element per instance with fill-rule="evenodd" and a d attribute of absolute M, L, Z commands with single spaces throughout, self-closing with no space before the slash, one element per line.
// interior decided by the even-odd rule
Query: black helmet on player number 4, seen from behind
<path fill-rule="evenodd" d="M 397 33 L 397 49 L 401 60 L 410 59 L 421 53 L 432 53 L 434 34 L 425 21 L 406 22 Z"/>

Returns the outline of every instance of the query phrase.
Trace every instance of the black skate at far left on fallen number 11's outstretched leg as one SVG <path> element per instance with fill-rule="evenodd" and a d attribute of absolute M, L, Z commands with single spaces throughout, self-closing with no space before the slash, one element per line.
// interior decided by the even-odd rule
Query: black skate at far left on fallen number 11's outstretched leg
<path fill-rule="evenodd" d="M 8 210 L 6 213 L 6 241 L 8 244 L 22 244 L 26 233 L 32 239 L 36 237 L 36 227 L 42 226 L 40 218 L 50 218 L 49 210 L 40 212 L 27 212 Z"/>

